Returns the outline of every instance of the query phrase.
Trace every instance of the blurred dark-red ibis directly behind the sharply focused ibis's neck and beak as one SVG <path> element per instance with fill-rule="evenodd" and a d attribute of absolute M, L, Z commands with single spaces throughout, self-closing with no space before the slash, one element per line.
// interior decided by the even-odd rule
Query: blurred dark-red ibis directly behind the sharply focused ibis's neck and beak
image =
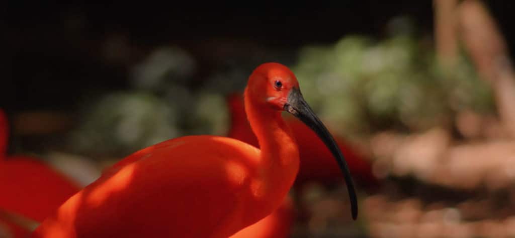
<path fill-rule="evenodd" d="M 227 104 L 231 123 L 228 137 L 259 147 L 258 139 L 247 120 L 243 95 L 238 92 L 229 94 Z M 286 119 L 285 122 L 291 128 L 299 147 L 300 168 L 296 184 L 306 181 L 331 183 L 339 180 L 341 172 L 338 165 L 318 135 L 298 120 Z M 344 138 L 335 136 L 334 139 L 345 156 L 353 177 L 366 185 L 376 185 L 378 181 L 372 173 L 372 166 L 362 153 Z"/>

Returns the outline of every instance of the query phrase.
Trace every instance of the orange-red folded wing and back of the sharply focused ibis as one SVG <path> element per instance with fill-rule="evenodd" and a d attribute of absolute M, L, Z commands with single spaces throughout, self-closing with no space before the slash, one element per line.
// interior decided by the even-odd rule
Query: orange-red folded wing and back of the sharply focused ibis
<path fill-rule="evenodd" d="M 37 237 L 227 237 L 250 225 L 258 159 L 251 145 L 209 135 L 150 146 L 66 201 Z"/>

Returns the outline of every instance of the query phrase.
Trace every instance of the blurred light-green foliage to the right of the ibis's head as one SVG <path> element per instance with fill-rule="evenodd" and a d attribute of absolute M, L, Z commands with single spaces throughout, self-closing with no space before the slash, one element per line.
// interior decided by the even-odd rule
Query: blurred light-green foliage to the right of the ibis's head
<path fill-rule="evenodd" d="M 459 110 L 493 111 L 489 86 L 463 53 L 447 71 L 434 55 L 409 33 L 379 42 L 351 35 L 304 47 L 291 68 L 306 100 L 340 134 L 423 130 Z"/>

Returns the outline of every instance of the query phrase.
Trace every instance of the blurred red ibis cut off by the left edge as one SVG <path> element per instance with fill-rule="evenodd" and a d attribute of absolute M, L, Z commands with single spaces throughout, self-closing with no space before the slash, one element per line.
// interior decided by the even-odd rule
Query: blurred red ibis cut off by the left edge
<path fill-rule="evenodd" d="M 0 110 L 0 209 L 43 222 L 80 186 L 37 158 L 7 156 L 8 134 L 7 117 Z M 7 224 L 14 237 L 29 235 L 8 218 L 0 218 L 0 223 Z"/>

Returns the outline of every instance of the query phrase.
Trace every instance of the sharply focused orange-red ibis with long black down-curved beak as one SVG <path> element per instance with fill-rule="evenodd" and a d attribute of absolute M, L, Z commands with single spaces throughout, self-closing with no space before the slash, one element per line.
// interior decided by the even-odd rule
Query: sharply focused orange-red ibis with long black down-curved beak
<path fill-rule="evenodd" d="M 281 112 L 310 126 L 330 148 L 357 198 L 332 135 L 303 99 L 286 66 L 252 72 L 245 108 L 260 148 L 214 135 L 189 135 L 135 152 L 76 193 L 32 237 L 229 237 L 276 210 L 299 168 L 299 151 Z"/>

